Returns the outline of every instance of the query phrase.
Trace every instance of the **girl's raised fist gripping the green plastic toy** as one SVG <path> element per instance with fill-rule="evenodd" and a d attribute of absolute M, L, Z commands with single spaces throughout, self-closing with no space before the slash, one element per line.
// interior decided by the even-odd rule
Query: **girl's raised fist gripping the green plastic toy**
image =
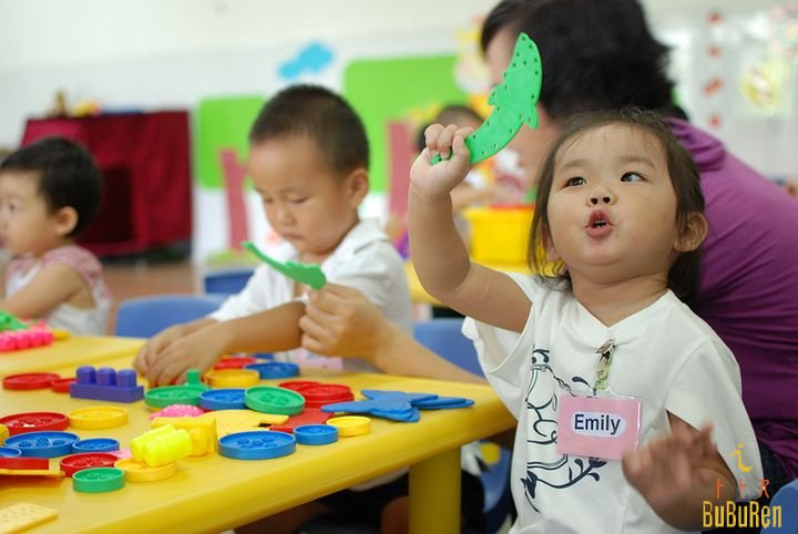
<path fill-rule="evenodd" d="M 410 170 L 412 186 L 424 195 L 449 195 L 469 172 L 471 154 L 464 138 L 471 132 L 472 129 L 458 129 L 456 125 L 429 126 L 424 132 L 427 147 L 416 158 Z M 453 155 L 448 158 L 451 152 Z M 443 161 L 434 165 L 430 164 L 430 158 L 437 154 L 440 154 Z"/>

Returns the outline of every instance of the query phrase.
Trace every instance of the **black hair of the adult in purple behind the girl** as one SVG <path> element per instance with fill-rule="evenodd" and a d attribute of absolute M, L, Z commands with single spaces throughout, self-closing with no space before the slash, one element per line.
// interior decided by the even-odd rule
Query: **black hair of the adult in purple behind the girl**
<path fill-rule="evenodd" d="M 626 106 L 674 112 L 668 48 L 636 0 L 503 0 L 484 21 L 482 49 L 504 30 L 538 45 L 540 103 L 554 120 Z"/>

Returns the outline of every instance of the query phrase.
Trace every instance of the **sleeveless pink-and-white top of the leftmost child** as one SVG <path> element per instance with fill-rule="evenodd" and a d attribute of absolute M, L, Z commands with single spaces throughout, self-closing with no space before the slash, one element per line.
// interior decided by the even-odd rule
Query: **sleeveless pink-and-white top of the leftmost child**
<path fill-rule="evenodd" d="M 6 296 L 10 297 L 37 276 L 45 265 L 60 264 L 78 273 L 94 299 L 93 308 L 75 308 L 61 302 L 44 317 L 50 328 L 62 328 L 75 336 L 105 336 L 111 296 L 105 287 L 100 260 L 91 251 L 76 245 L 53 248 L 41 259 L 30 255 L 14 258 L 6 271 Z"/>

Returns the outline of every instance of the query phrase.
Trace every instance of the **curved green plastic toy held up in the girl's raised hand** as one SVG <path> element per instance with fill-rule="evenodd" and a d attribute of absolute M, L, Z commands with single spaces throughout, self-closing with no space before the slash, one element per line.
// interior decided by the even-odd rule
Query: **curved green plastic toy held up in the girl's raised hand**
<path fill-rule="evenodd" d="M 466 137 L 471 163 L 487 160 L 502 150 L 523 124 L 538 127 L 535 104 L 543 83 L 543 64 L 538 45 L 526 33 L 522 32 L 515 41 L 512 60 L 502 79 L 503 83 L 497 85 L 488 97 L 488 103 L 493 106 L 490 116 Z M 442 158 L 438 154 L 431 163 L 434 165 L 440 161 Z"/>

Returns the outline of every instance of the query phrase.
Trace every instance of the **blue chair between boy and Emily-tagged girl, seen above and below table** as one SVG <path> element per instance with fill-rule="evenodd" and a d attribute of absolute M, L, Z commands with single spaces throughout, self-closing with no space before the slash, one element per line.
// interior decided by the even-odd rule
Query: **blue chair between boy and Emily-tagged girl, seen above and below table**
<path fill-rule="evenodd" d="M 413 337 L 432 352 L 441 356 L 456 366 L 477 376 L 483 376 L 477 360 L 477 350 L 470 339 L 462 335 L 462 319 L 440 318 L 417 321 L 413 325 Z M 499 460 L 489 464 L 488 471 L 480 474 L 484 491 L 487 532 L 497 532 L 511 513 L 512 496 L 510 494 L 510 465 L 512 454 L 500 448 Z"/>

